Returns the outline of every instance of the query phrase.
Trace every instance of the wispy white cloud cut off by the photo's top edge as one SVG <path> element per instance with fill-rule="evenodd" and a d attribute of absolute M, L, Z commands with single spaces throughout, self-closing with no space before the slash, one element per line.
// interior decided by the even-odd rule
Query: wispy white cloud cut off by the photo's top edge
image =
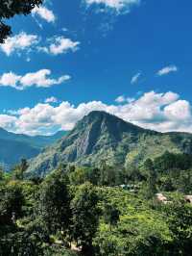
<path fill-rule="evenodd" d="M 140 0 L 84 0 L 87 5 L 104 5 L 107 8 L 113 9 L 117 12 L 127 9 L 129 12 L 132 6 L 139 5 Z"/>

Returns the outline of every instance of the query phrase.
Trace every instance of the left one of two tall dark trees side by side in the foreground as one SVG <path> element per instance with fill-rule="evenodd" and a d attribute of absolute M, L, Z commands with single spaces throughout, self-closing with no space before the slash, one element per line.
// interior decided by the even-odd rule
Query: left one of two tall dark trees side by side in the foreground
<path fill-rule="evenodd" d="M 58 169 L 40 185 L 38 213 L 50 234 L 66 232 L 70 221 L 70 192 L 65 170 Z"/>

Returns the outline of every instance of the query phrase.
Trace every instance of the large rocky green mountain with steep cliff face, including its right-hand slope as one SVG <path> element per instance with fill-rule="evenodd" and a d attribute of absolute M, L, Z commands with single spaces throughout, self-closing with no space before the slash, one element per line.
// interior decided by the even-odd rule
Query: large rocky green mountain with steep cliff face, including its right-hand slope
<path fill-rule="evenodd" d="M 66 137 L 32 160 L 28 172 L 43 176 L 60 163 L 98 166 L 104 160 L 113 166 L 140 165 L 166 150 L 191 154 L 192 135 L 162 134 L 95 111 L 84 116 Z"/>

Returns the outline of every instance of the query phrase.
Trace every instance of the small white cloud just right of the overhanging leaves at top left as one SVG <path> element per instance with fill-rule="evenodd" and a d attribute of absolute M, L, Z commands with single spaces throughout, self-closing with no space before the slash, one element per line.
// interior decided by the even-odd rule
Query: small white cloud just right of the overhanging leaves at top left
<path fill-rule="evenodd" d="M 56 21 L 56 15 L 53 13 L 53 11 L 43 6 L 35 7 L 35 9 L 32 11 L 32 14 L 34 16 L 37 15 L 41 17 L 49 23 L 54 23 Z"/>

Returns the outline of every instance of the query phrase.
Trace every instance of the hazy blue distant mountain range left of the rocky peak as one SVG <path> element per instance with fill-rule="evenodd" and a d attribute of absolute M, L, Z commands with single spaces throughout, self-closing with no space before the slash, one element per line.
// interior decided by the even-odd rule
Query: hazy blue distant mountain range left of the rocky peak
<path fill-rule="evenodd" d="M 0 128 L 0 165 L 9 170 L 21 158 L 31 159 L 36 157 L 42 148 L 58 141 L 63 136 L 64 132 L 59 132 L 54 136 L 30 137 L 10 133 Z"/>

